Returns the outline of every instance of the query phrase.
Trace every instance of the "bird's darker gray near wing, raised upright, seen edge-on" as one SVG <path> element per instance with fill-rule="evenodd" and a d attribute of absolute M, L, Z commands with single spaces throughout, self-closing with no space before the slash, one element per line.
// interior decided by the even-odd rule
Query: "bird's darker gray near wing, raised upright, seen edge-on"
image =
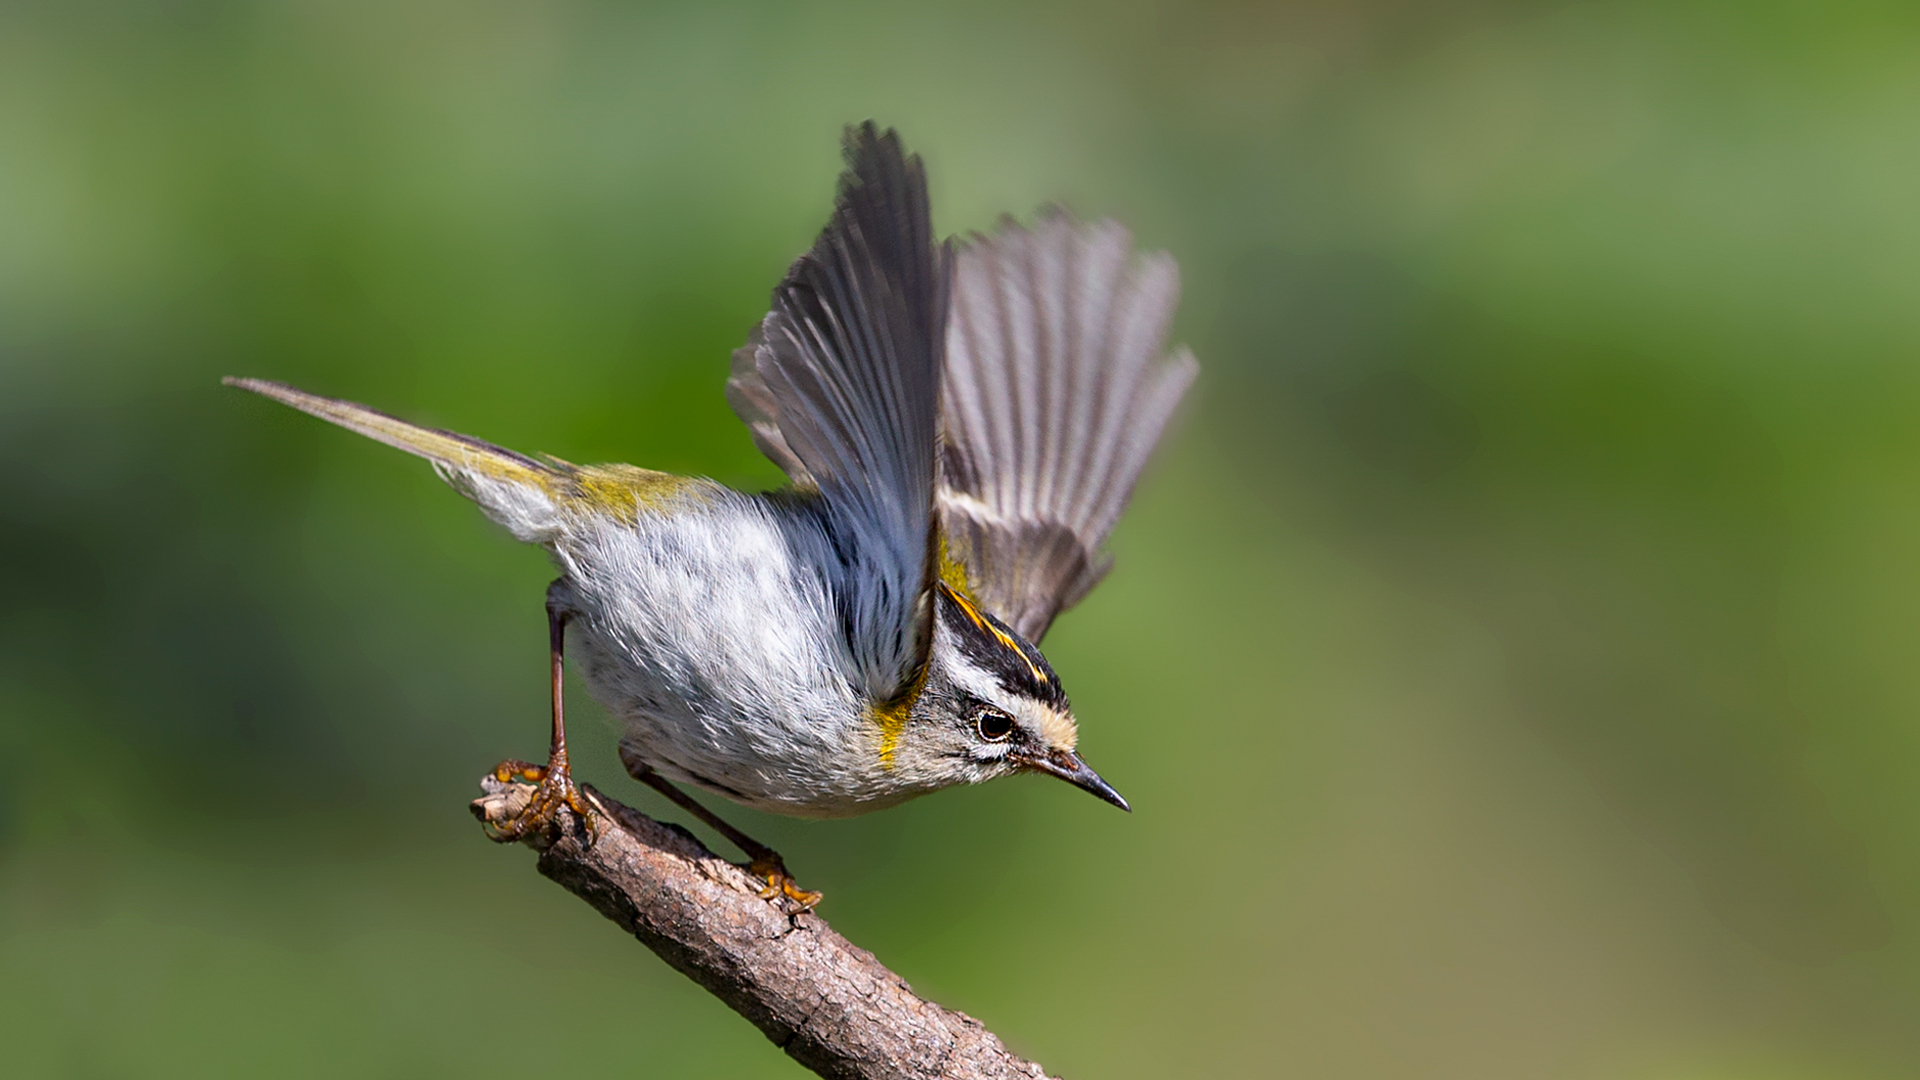
<path fill-rule="evenodd" d="M 943 261 L 920 158 L 872 121 L 849 127 L 833 219 L 728 382 L 760 450 L 822 496 L 839 615 L 876 700 L 914 678 L 929 642 Z"/>

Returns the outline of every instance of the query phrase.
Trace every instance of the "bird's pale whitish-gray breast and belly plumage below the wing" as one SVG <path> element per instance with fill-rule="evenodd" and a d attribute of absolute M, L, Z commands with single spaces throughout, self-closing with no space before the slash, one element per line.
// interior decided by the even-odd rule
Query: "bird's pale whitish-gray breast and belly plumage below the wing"
<path fill-rule="evenodd" d="M 870 719 L 818 523 L 718 484 L 570 530 L 570 650 L 626 744 L 670 778 L 783 813 L 849 813 Z M 858 769 L 854 769 L 858 771 Z"/>

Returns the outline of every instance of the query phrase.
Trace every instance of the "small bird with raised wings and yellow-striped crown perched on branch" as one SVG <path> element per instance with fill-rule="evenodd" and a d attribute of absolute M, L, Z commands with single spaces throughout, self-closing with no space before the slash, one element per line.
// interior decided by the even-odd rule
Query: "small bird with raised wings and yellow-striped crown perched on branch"
<path fill-rule="evenodd" d="M 588 815 L 566 763 L 566 632 L 620 759 L 812 905 L 780 855 L 676 784 L 795 817 L 851 817 L 1044 773 L 1131 809 L 1077 751 L 1035 648 L 1112 565 L 1106 536 L 1198 365 L 1164 352 L 1165 254 L 1044 209 L 935 242 L 918 156 L 847 129 L 833 217 L 733 352 L 728 402 L 789 484 L 762 494 L 572 465 L 282 382 L 227 379 L 432 461 L 561 571 L 547 588 L 553 736 L 495 824 Z"/>

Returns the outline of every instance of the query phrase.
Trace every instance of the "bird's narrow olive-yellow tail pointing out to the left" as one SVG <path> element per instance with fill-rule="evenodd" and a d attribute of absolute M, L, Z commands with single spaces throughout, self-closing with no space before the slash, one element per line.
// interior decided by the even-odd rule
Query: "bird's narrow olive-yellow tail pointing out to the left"
<path fill-rule="evenodd" d="M 470 434 L 411 425 L 378 409 L 338 398 L 321 398 L 284 382 L 265 379 L 223 379 L 221 382 L 273 398 L 396 450 L 426 457 L 447 484 L 480 503 L 488 517 L 507 527 L 518 540 L 543 544 L 561 532 L 559 503 L 570 473 L 564 473 L 557 463 L 538 461 Z"/>

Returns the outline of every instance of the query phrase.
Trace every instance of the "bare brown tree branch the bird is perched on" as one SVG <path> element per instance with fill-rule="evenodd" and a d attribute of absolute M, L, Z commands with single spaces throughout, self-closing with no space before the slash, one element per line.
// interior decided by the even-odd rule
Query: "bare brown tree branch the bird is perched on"
<path fill-rule="evenodd" d="M 472 811 L 513 817 L 526 784 L 480 780 Z M 760 897 L 760 882 L 684 828 L 653 821 L 586 788 L 593 838 L 570 811 L 551 836 L 528 840 L 540 872 L 618 922 L 676 970 L 753 1020 L 774 1045 L 820 1076 L 931 1080 L 1041 1076 L 979 1020 L 925 1001 L 874 953 L 812 911 Z"/>

